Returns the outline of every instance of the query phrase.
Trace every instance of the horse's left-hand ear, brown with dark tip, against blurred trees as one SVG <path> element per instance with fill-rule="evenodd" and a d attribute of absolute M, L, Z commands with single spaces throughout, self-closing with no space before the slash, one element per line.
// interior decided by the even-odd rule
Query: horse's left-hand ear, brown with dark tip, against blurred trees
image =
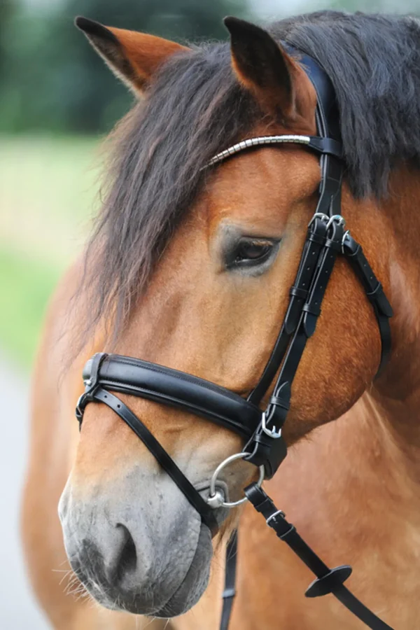
<path fill-rule="evenodd" d="M 153 74 L 176 52 L 190 50 L 154 35 L 105 27 L 78 17 L 78 27 L 114 74 L 137 94 L 142 94 Z"/>

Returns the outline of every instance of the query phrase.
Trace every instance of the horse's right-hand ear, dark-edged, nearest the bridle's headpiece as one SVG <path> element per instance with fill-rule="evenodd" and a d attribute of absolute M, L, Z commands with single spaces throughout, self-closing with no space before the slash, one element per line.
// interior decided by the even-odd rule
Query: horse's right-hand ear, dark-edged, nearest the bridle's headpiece
<path fill-rule="evenodd" d="M 281 120 L 293 118 L 293 59 L 264 29 L 238 18 L 228 17 L 224 22 L 239 82 L 252 92 L 263 111 Z"/>

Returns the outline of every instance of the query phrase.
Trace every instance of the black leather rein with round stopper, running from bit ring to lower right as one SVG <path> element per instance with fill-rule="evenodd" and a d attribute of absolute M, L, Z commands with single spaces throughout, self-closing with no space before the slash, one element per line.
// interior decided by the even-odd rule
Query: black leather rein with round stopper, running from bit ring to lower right
<path fill-rule="evenodd" d="M 350 566 L 344 565 L 330 569 L 297 533 L 295 526 L 286 520 L 285 515 L 281 510 L 277 509 L 272 499 L 257 484 L 247 486 L 245 494 L 253 504 L 253 507 L 255 507 L 255 510 L 265 517 L 267 525 L 274 529 L 278 538 L 286 542 L 290 549 L 316 575 L 316 580 L 310 584 L 306 591 L 307 597 L 320 597 L 332 594 L 371 630 L 392 630 L 391 626 L 388 626 L 377 615 L 374 615 L 369 608 L 344 586 L 345 580 L 351 574 Z"/>

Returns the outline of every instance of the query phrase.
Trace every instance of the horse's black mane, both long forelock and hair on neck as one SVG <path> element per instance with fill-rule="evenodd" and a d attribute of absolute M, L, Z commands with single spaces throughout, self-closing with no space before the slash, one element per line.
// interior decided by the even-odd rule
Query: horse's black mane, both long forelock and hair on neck
<path fill-rule="evenodd" d="M 386 195 L 396 162 L 420 165 L 420 22 L 335 11 L 288 18 L 273 36 L 314 57 L 337 94 L 353 195 Z M 116 132 L 104 207 L 87 249 L 87 328 L 127 321 L 202 184 L 200 167 L 262 116 L 239 87 L 228 43 L 195 47 L 160 71 Z"/>

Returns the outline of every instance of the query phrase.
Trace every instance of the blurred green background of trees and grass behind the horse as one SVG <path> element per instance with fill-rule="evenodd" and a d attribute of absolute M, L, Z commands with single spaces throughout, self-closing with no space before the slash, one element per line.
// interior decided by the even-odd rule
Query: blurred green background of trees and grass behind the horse
<path fill-rule="evenodd" d="M 320 8 L 420 14 L 420 0 L 0 0 L 0 351 L 29 367 L 45 305 L 95 211 L 102 138 L 132 97 L 75 27 L 76 15 L 177 41 L 226 38 Z"/>

